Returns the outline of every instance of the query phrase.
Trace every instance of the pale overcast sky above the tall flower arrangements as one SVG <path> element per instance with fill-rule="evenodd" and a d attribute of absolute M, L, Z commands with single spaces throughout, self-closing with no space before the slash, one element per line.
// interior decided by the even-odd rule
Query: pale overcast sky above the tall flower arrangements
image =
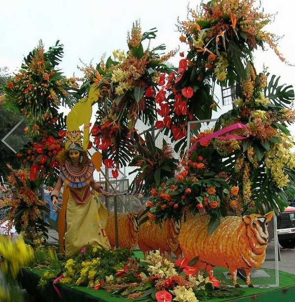
<path fill-rule="evenodd" d="M 261 0 L 266 13 L 276 14 L 275 21 L 265 29 L 283 36 L 280 50 L 291 63 L 294 59 L 294 0 Z M 207 2 L 207 1 L 205 1 Z M 200 0 L 191 0 L 196 8 Z M 57 40 L 64 45 L 60 68 L 66 76 L 79 76 L 77 65 L 100 61 L 103 54 L 127 50 L 127 31 L 132 23 L 141 21 L 143 31 L 156 27 L 158 35 L 153 46 L 166 44 L 167 51 L 181 43 L 176 29 L 177 18 L 186 20 L 187 0 L 6 0 L 0 10 L 0 67 L 10 72 L 20 68 L 24 56 L 42 39 L 45 50 Z M 180 45 L 182 48 L 185 45 Z M 263 64 L 270 74 L 281 75 L 281 83 L 295 87 L 295 67 L 282 63 L 272 50 L 255 51 L 256 69 Z M 177 64 L 179 56 L 173 62 Z M 295 134 L 295 133 L 293 133 Z"/>

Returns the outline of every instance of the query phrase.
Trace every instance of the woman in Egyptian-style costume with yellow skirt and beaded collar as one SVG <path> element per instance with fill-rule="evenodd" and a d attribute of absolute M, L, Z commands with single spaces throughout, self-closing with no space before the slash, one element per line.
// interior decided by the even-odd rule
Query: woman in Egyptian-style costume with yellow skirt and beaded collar
<path fill-rule="evenodd" d="M 93 163 L 80 144 L 72 142 L 66 151 L 60 153 L 60 175 L 51 199 L 53 209 L 56 210 L 59 190 L 63 183 L 68 186 L 70 193 L 66 208 L 66 255 L 80 252 L 87 244 L 98 244 L 109 249 L 110 243 L 103 229 L 107 210 L 96 192 L 105 196 L 109 196 L 109 193 L 94 181 Z"/>

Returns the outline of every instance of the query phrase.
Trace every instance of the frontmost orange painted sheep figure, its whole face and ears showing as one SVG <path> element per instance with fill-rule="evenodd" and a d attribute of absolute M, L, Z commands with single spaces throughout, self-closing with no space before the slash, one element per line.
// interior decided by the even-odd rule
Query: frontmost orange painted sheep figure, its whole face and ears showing
<path fill-rule="evenodd" d="M 209 277 L 213 276 L 215 266 L 227 268 L 233 284 L 239 287 L 236 274 L 238 269 L 243 269 L 246 283 L 253 287 L 250 272 L 252 268 L 260 268 L 265 261 L 269 240 L 267 225 L 272 216 L 273 212 L 223 217 L 212 234 L 207 232 L 208 215 L 192 217 L 181 225 L 179 244 L 189 261 L 198 257 L 195 266 L 206 269 Z"/>

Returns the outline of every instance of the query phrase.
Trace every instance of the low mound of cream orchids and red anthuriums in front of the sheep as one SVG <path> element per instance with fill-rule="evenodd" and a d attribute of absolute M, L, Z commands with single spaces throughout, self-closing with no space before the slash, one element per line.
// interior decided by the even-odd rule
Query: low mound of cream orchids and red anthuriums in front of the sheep
<path fill-rule="evenodd" d="M 194 260 L 192 260 L 193 262 Z M 136 301 L 197 302 L 198 299 L 240 296 L 243 291 L 229 289 L 215 278 L 205 277 L 185 258 L 175 263 L 160 252 L 149 252 L 145 260 L 128 259 L 116 275 L 107 276 L 104 289 L 116 296 Z"/>

